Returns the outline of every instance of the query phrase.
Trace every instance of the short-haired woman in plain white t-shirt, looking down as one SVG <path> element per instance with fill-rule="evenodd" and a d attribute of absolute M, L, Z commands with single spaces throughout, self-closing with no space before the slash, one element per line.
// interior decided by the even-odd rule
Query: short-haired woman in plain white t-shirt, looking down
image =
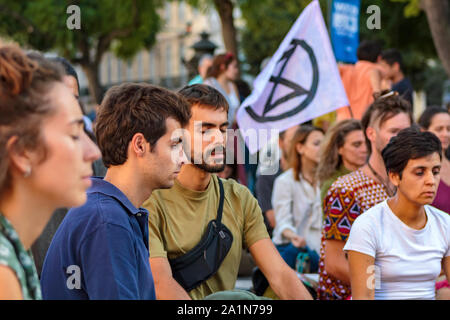
<path fill-rule="evenodd" d="M 353 223 L 344 247 L 352 299 L 435 299 L 441 267 L 450 279 L 450 216 L 430 204 L 439 185 L 439 139 L 418 127 L 382 151 L 396 194 Z"/>

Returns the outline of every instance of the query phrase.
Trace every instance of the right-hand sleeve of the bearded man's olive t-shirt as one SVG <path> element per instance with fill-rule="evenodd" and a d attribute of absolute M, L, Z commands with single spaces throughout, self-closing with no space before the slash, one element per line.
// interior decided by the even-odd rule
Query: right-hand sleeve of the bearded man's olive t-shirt
<path fill-rule="evenodd" d="M 250 191 L 243 187 L 241 203 L 244 205 L 243 247 L 249 248 L 259 240 L 270 238 L 264 224 L 261 208 Z"/>

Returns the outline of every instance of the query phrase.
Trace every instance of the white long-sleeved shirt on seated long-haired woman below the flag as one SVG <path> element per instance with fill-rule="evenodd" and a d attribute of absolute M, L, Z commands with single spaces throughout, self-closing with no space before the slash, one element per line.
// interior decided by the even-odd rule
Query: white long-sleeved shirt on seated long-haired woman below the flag
<path fill-rule="evenodd" d="M 322 231 L 322 206 L 319 187 L 313 187 L 300 176 L 294 180 L 294 171 L 289 169 L 275 179 L 272 206 L 275 212 L 275 229 L 272 241 L 289 243 L 282 233 L 290 229 L 304 237 L 306 245 L 320 252 Z"/>

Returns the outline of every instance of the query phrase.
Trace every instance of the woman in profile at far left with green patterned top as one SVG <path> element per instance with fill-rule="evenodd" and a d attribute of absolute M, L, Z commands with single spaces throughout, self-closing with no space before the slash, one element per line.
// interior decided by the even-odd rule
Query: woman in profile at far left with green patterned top
<path fill-rule="evenodd" d="M 100 157 L 63 74 L 0 48 L 0 300 L 42 298 L 30 247 L 56 208 L 86 201 Z"/>

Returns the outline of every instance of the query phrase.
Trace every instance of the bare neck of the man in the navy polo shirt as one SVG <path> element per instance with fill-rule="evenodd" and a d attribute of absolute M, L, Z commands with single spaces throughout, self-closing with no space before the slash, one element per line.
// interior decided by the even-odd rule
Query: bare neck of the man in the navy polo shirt
<path fill-rule="evenodd" d="M 106 172 L 104 180 L 122 191 L 136 208 L 139 208 L 150 197 L 154 189 L 149 185 L 148 179 L 142 177 L 139 170 L 127 163 L 111 166 Z"/>

